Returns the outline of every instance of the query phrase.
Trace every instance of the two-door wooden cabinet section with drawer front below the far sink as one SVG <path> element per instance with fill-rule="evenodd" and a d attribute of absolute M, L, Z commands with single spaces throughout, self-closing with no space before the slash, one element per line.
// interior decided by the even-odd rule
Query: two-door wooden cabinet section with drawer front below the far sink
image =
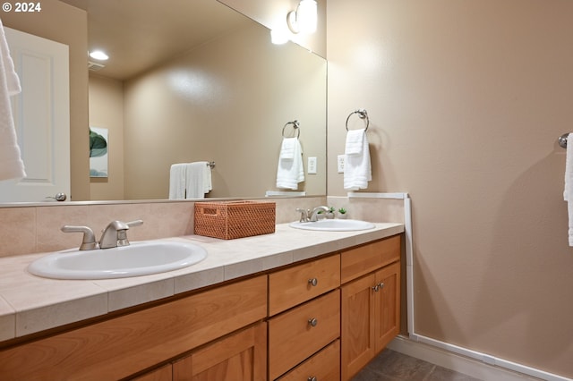
<path fill-rule="evenodd" d="M 342 253 L 341 373 L 355 376 L 399 333 L 400 237 Z"/>

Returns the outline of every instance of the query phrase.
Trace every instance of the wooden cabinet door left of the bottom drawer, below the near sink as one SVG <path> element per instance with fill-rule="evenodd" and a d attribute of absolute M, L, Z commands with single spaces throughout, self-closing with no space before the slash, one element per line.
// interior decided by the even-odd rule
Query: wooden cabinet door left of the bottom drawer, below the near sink
<path fill-rule="evenodd" d="M 266 377 L 266 323 L 208 344 L 173 364 L 175 381 L 262 381 Z"/>

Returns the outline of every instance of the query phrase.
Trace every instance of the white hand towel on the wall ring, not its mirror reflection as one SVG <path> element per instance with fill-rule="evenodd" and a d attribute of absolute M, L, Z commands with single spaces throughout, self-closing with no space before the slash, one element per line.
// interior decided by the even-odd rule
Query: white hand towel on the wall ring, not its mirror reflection
<path fill-rule="evenodd" d="M 357 142 L 362 142 L 357 149 Z M 344 189 L 366 189 L 372 180 L 372 166 L 366 130 L 352 130 L 346 133 L 346 149 L 344 163 Z"/>

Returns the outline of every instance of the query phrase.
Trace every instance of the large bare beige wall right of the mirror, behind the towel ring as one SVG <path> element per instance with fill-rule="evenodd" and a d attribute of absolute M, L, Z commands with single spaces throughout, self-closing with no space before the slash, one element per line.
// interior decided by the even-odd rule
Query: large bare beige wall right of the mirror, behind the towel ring
<path fill-rule="evenodd" d="M 329 0 L 329 196 L 344 121 L 368 191 L 413 199 L 417 334 L 573 377 L 573 2 Z"/>

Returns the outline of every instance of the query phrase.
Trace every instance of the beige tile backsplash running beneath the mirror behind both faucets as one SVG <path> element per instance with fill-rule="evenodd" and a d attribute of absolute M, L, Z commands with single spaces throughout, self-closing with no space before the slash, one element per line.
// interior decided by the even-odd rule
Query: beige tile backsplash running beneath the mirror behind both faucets
<path fill-rule="evenodd" d="M 206 199 L 208 200 L 208 199 Z M 262 200 L 262 199 L 258 199 Z M 298 220 L 297 207 L 319 205 L 345 207 L 350 218 L 371 222 L 404 222 L 399 199 L 348 199 L 346 197 L 304 197 L 264 199 L 277 204 L 277 224 Z M 193 233 L 193 201 L 74 202 L 48 205 L 0 207 L 0 257 L 79 247 L 81 233 L 62 233 L 64 224 L 89 226 L 100 232 L 114 220 L 141 219 L 128 238 L 133 241 L 176 237 Z"/>

